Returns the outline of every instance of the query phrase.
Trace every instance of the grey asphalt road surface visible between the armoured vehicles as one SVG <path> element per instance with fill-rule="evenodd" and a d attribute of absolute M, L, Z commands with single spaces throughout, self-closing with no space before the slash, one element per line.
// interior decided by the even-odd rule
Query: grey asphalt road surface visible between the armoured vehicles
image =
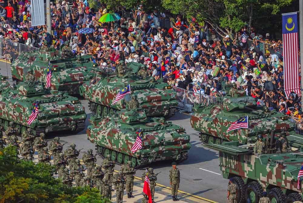
<path fill-rule="evenodd" d="M 9 64 L 0 62 L 0 73 L 2 75 L 8 75 L 11 78 Z M 11 81 L 11 80 L 10 80 Z M 85 107 L 87 113 L 87 119 L 85 121 L 85 130 L 79 132 L 77 135 L 71 135 L 66 132 L 56 132 L 47 135 L 48 141 L 52 141 L 54 137 L 60 137 L 60 142 L 67 143 L 63 146 L 63 150 L 68 148 L 69 144 L 75 143 L 77 149 L 83 148 L 80 152 L 79 158 L 85 151 L 92 148 L 95 152 L 95 145 L 87 140 L 86 128 L 89 125 L 88 119 L 91 116 L 91 112 L 88 109 L 88 101 L 81 100 L 82 105 Z M 225 202 L 227 194 L 228 180 L 222 178 L 219 168 L 218 152 L 205 148 L 202 146 L 198 137 L 198 132 L 191 128 L 189 122 L 189 116 L 176 114 L 169 119 L 174 124 L 181 125 L 186 129 L 188 135 L 190 135 L 191 150 L 189 152 L 188 160 L 180 163 L 177 167 L 180 169 L 181 182 L 179 190 L 197 195 L 203 198 L 207 198 L 217 202 Z M 102 158 L 97 156 L 97 163 L 102 163 Z M 154 163 L 151 165 L 155 169 L 155 173 L 161 171 L 158 175 L 158 183 L 165 186 L 169 185 L 169 170 L 171 169 L 170 162 Z M 119 165 L 116 165 L 116 170 L 120 169 Z M 138 170 L 136 176 L 141 177 L 143 170 Z"/>

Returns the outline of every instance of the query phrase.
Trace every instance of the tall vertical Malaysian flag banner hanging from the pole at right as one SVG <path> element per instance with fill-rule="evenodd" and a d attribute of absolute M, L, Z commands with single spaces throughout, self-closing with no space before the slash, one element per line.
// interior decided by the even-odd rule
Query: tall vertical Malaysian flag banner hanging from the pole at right
<path fill-rule="evenodd" d="M 301 95 L 297 15 L 297 12 L 282 14 L 284 90 L 287 97 L 292 91 Z"/>

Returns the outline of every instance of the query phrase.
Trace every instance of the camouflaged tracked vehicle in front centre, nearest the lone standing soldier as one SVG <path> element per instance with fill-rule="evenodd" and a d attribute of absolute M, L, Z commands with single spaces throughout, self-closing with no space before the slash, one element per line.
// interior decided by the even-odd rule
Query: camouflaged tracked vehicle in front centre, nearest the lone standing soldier
<path fill-rule="evenodd" d="M 188 158 L 190 137 L 185 129 L 164 121 L 164 118 L 148 119 L 142 110 L 121 110 L 119 117 L 92 116 L 88 126 L 88 140 L 96 144 L 96 150 L 119 164 L 132 161 L 133 167 L 151 162 Z M 140 131 L 141 129 L 141 131 Z M 137 135 L 142 137 L 142 149 L 132 153 Z"/>

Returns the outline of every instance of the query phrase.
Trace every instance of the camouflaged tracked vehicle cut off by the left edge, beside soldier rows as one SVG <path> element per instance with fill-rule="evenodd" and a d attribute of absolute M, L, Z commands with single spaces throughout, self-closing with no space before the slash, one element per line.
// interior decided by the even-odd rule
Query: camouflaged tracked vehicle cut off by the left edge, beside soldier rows
<path fill-rule="evenodd" d="M 28 125 L 28 118 L 38 100 L 38 118 Z M 6 88 L 0 94 L 0 119 L 6 130 L 10 122 L 16 123 L 17 134 L 32 128 L 36 133 L 85 128 L 85 109 L 78 98 L 57 90 L 44 89 L 40 82 L 21 82 Z"/>

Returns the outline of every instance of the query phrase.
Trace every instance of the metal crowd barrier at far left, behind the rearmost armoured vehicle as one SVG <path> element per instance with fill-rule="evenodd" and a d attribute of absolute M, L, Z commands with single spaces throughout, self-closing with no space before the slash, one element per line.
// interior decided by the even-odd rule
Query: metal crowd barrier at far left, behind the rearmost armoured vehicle
<path fill-rule="evenodd" d="M 0 58 L 15 60 L 23 53 L 35 52 L 38 50 L 39 48 L 36 47 L 0 38 Z"/>

